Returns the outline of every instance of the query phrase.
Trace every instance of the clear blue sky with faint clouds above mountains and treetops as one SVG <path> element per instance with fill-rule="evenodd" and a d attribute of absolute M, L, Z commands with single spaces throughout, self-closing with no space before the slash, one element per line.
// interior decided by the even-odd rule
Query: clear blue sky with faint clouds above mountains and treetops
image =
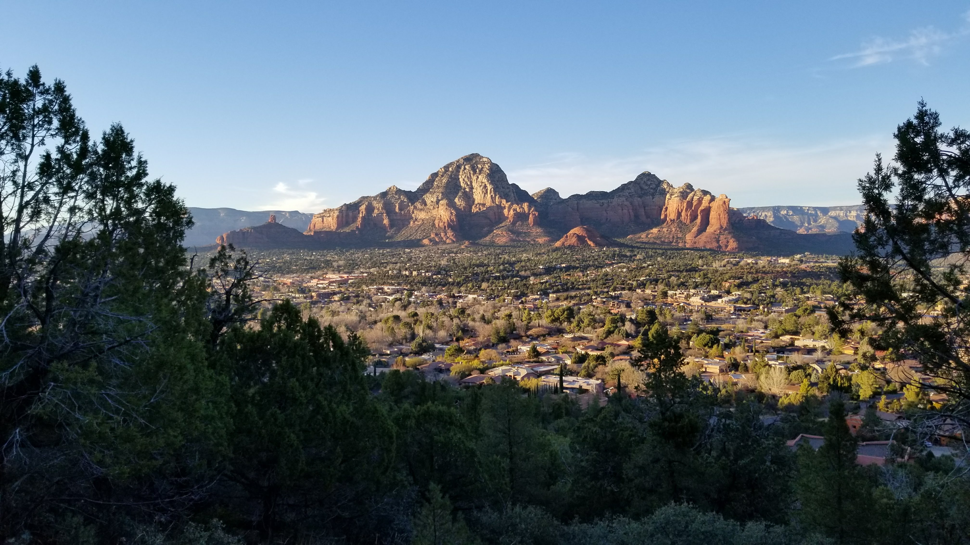
<path fill-rule="evenodd" d="M 923 97 L 970 125 L 970 1 L 5 2 L 0 66 L 121 121 L 189 206 L 318 211 L 477 152 L 534 192 L 651 171 L 845 205 Z"/>

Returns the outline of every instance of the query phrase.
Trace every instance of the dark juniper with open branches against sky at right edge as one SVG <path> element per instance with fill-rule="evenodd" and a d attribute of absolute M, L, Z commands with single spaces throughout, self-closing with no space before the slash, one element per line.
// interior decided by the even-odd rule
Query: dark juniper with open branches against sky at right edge
<path fill-rule="evenodd" d="M 896 128 L 892 163 L 881 156 L 858 180 L 865 218 L 857 254 L 840 274 L 862 305 L 843 302 L 829 317 L 843 336 L 869 321 L 883 330 L 874 348 L 921 362 L 945 412 L 970 423 L 970 132 L 940 131 L 937 112 L 920 102 Z"/>

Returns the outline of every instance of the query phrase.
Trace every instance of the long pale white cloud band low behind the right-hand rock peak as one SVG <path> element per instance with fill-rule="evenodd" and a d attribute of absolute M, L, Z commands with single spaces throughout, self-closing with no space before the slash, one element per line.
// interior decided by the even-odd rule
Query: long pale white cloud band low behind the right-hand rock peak
<path fill-rule="evenodd" d="M 725 193 L 733 207 L 854 205 L 860 202 L 857 178 L 872 167 L 876 152 L 891 150 L 891 141 L 879 138 L 797 145 L 730 136 L 653 147 L 630 157 L 562 153 L 510 169 L 508 178 L 530 193 L 553 187 L 566 197 L 609 191 L 646 170 L 673 185 L 689 182 Z"/>

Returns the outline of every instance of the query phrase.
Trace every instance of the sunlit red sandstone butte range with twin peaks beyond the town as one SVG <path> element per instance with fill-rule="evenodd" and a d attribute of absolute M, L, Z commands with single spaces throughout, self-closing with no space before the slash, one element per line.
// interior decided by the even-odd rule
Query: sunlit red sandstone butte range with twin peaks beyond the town
<path fill-rule="evenodd" d="M 441 167 L 413 191 L 392 185 L 314 214 L 302 239 L 290 233 L 296 230 L 271 221 L 227 233 L 218 243 L 321 248 L 551 243 L 581 226 L 614 240 L 727 251 L 846 253 L 852 244 L 847 235 L 802 235 L 773 227 L 730 208 L 726 195 L 689 183 L 674 187 L 649 172 L 612 191 L 563 198 L 546 188 L 530 195 L 477 153 Z"/>

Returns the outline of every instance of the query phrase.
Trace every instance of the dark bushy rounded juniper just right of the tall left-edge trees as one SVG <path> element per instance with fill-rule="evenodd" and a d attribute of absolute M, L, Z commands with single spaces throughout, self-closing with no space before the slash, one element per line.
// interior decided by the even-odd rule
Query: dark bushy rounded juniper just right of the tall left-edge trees
<path fill-rule="evenodd" d="M 247 524 L 263 539 L 361 516 L 351 505 L 363 507 L 391 469 L 393 429 L 367 389 L 367 353 L 359 337 L 344 341 L 289 301 L 258 329 L 237 325 L 220 341 L 214 361 L 234 415 L 224 479 L 236 493 L 226 498 L 251 502 Z"/>

